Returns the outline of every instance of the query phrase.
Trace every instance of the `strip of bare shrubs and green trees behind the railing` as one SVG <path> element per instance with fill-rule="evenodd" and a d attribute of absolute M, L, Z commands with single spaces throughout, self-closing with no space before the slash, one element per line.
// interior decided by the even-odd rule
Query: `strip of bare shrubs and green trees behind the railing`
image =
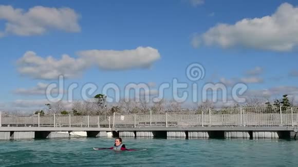
<path fill-rule="evenodd" d="M 71 109 L 66 109 L 63 102 L 46 103 L 44 110 L 37 110 L 32 112 L 7 112 L 2 111 L 2 114 L 15 115 L 15 116 L 32 116 L 36 114 L 62 114 L 62 115 L 113 115 L 119 114 L 165 114 L 165 113 L 180 113 L 180 114 L 199 114 L 202 112 L 209 112 L 212 110 L 216 114 L 232 114 L 233 111 L 241 108 L 245 108 L 246 112 L 255 113 L 275 113 L 275 112 L 291 112 L 291 108 L 298 106 L 293 104 L 293 98 L 289 98 L 288 95 L 283 95 L 281 99 L 274 99 L 269 101 L 266 98 L 247 98 L 246 103 L 238 104 L 234 103 L 232 106 L 216 106 L 212 101 L 202 102 L 195 107 L 182 107 L 181 103 L 177 101 L 167 101 L 161 99 L 158 102 L 149 103 L 144 99 L 138 101 L 134 99 L 121 99 L 118 103 L 107 103 L 106 96 L 103 94 L 97 94 L 94 98 L 88 101 L 77 100 L 72 102 Z"/>

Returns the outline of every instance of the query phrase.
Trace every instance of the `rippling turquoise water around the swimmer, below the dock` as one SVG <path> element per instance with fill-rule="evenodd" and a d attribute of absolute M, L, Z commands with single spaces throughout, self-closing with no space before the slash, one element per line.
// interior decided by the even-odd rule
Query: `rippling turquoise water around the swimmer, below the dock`
<path fill-rule="evenodd" d="M 114 138 L 0 141 L 0 166 L 298 166 L 296 140 Z"/>

